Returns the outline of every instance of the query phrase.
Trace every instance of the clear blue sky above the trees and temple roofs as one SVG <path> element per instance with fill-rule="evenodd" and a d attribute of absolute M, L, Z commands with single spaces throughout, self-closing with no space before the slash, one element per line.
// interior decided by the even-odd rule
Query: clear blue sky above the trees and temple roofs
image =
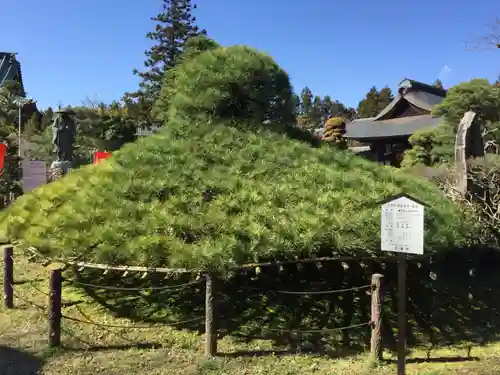
<path fill-rule="evenodd" d="M 28 95 L 40 108 L 110 102 L 137 87 L 161 0 L 2 0 L 0 50 L 18 52 Z M 223 45 L 271 54 L 296 91 L 309 86 L 356 106 L 372 85 L 404 78 L 446 87 L 494 80 L 500 50 L 464 42 L 500 15 L 498 0 L 198 0 L 196 16 Z"/>

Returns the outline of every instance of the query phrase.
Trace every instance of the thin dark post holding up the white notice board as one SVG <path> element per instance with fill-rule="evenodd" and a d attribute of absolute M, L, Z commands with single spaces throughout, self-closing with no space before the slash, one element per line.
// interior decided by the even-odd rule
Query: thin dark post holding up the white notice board
<path fill-rule="evenodd" d="M 398 375 L 406 373 L 406 254 L 398 255 Z"/>

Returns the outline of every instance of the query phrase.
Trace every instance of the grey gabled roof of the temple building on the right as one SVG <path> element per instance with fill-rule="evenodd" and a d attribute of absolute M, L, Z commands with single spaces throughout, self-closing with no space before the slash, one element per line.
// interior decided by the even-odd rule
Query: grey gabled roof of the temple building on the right
<path fill-rule="evenodd" d="M 441 103 L 446 91 L 411 79 L 399 84 L 398 94 L 372 118 L 354 120 L 346 125 L 345 138 L 368 140 L 411 136 L 417 130 L 439 125 L 431 111 Z"/>

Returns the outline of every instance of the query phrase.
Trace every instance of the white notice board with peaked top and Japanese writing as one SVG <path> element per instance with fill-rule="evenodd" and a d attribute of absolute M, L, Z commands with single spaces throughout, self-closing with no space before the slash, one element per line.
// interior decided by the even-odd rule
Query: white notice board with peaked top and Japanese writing
<path fill-rule="evenodd" d="M 424 206 L 400 196 L 382 205 L 380 242 L 383 251 L 424 253 Z"/>

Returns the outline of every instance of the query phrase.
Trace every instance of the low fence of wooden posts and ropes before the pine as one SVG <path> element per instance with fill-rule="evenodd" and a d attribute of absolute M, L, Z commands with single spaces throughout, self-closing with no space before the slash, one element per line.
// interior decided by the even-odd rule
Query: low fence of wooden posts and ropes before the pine
<path fill-rule="evenodd" d="M 88 264 L 88 268 L 102 268 L 102 265 L 98 265 L 99 267 L 94 267 L 91 264 Z M 54 269 L 50 272 L 49 279 L 49 294 L 48 294 L 48 306 L 42 307 L 37 306 L 36 304 L 26 301 L 22 299 L 20 296 L 15 294 L 14 286 L 14 248 L 13 246 L 4 247 L 4 256 L 3 256 L 3 268 L 4 268 L 4 278 L 3 278 L 3 289 L 4 289 L 4 306 L 7 309 L 14 308 L 14 297 L 23 300 L 26 303 L 34 305 L 39 309 L 43 309 L 47 313 L 48 320 L 48 345 L 50 347 L 60 347 L 61 346 L 61 323 L 63 319 L 72 320 L 81 323 L 90 323 L 96 324 L 91 321 L 81 321 L 75 319 L 73 317 L 65 316 L 62 313 L 62 288 L 63 288 L 63 275 L 62 269 Z M 85 266 L 80 265 L 80 268 L 85 268 Z M 117 268 L 117 267 L 109 267 L 109 268 Z M 121 268 L 120 268 L 121 269 Z M 131 267 L 127 267 L 130 271 Z M 123 270 L 121 270 L 123 272 Z M 128 272 L 128 271 L 126 271 Z M 218 277 L 213 273 L 204 273 L 204 281 L 205 281 L 205 354 L 207 357 L 213 357 L 217 354 L 217 302 L 218 302 Z M 369 326 L 371 329 L 371 340 L 370 340 L 370 355 L 374 360 L 382 359 L 382 312 L 383 312 L 383 275 L 374 274 L 371 277 L 370 284 L 364 286 L 357 286 L 347 289 L 339 289 L 339 290 L 328 290 L 328 291 L 317 291 L 314 294 L 332 294 L 332 293 L 346 293 L 353 292 L 355 290 L 360 289 L 369 289 L 371 294 L 371 319 L 369 322 L 356 324 L 348 327 L 340 327 L 334 329 L 324 329 L 321 331 L 340 331 L 351 328 L 357 328 L 362 326 Z M 202 280 L 203 281 L 203 280 Z M 111 290 L 151 290 L 152 288 L 120 288 L 120 287 L 110 287 L 103 285 L 91 285 L 84 284 L 78 281 L 72 281 L 73 284 L 80 284 L 80 286 L 85 287 L 95 287 L 99 289 L 111 289 Z M 178 287 L 189 287 L 198 282 L 190 282 L 183 285 L 179 285 Z M 172 286 L 167 287 L 157 287 L 155 289 L 172 289 Z M 176 290 L 179 290 L 177 288 Z M 289 292 L 289 294 L 307 294 L 304 292 Z M 103 325 L 104 326 L 104 325 Z M 109 325 L 108 325 L 109 326 Z M 153 328 L 154 326 L 151 326 Z M 137 328 L 134 326 L 131 327 L 121 327 L 121 328 Z M 142 327 L 144 328 L 144 326 Z M 306 331 L 297 331 L 297 332 L 306 332 Z"/>

